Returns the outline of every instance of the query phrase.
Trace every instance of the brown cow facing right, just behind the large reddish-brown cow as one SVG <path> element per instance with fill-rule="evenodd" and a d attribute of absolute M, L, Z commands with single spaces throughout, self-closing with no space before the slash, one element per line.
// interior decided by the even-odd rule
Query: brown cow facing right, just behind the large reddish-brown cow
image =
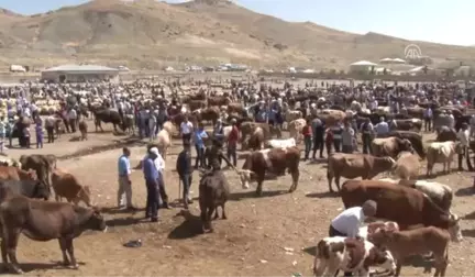
<path fill-rule="evenodd" d="M 344 154 L 334 153 L 328 159 L 327 179 L 329 190 L 333 192 L 331 186 L 333 177 L 336 189 L 340 191 L 340 177 L 349 179 L 362 177 L 373 179 L 376 175 L 391 170 L 396 166 L 396 160 L 391 157 L 375 157 L 367 154 Z"/>

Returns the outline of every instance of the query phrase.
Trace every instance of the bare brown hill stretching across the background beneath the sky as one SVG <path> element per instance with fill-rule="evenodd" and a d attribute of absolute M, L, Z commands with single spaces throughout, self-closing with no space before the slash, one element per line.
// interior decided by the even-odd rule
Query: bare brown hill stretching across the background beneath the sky
<path fill-rule="evenodd" d="M 287 22 L 223 0 L 97 0 L 31 16 L 0 12 L 0 63 L 40 67 L 87 62 L 133 68 L 219 63 L 345 68 L 357 59 L 402 57 L 410 43 L 435 59 L 475 54 L 474 47 Z"/>

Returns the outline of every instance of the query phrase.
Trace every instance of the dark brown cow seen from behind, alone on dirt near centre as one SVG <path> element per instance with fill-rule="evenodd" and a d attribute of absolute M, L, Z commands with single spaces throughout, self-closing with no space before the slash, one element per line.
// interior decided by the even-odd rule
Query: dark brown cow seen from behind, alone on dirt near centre
<path fill-rule="evenodd" d="M 201 210 L 202 231 L 213 232 L 211 215 L 218 219 L 218 207 L 221 207 L 221 218 L 227 219 L 225 202 L 230 197 L 228 179 L 221 170 L 205 173 L 199 181 L 199 207 Z"/>

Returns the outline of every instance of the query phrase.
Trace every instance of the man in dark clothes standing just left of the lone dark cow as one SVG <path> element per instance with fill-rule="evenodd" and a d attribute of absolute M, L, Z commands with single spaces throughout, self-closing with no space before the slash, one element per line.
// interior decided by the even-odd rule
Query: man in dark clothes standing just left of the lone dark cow
<path fill-rule="evenodd" d="M 188 204 L 192 203 L 192 200 L 189 197 L 189 190 L 192 180 L 191 153 L 190 153 L 189 142 L 184 143 L 184 149 L 178 154 L 176 169 L 184 185 L 184 193 L 183 193 L 184 206 L 185 209 L 188 209 Z"/>

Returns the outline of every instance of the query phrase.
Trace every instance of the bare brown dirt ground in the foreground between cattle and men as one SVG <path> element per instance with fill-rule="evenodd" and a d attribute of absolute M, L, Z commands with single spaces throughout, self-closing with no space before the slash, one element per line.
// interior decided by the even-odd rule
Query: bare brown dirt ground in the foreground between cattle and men
<path fill-rule="evenodd" d="M 93 145 L 117 143 L 123 136 L 111 133 L 91 133 L 87 142 L 69 142 L 64 135 L 54 145 L 36 151 L 11 149 L 19 156 L 25 153 L 71 154 Z M 145 154 L 144 146 L 132 147 L 132 166 Z M 167 157 L 166 189 L 170 199 L 178 197 L 178 178 L 173 171 L 181 146 L 174 141 Z M 117 204 L 117 159 L 121 149 L 75 157 L 58 162 L 58 167 L 74 173 L 84 185 L 92 188 L 93 201 L 102 208 Z M 243 160 L 240 160 L 240 166 Z M 435 167 L 435 171 L 441 166 Z M 422 169 L 424 173 L 424 169 Z M 300 181 L 297 191 L 287 193 L 290 176 L 264 182 L 264 196 L 255 198 L 255 185 L 241 188 L 236 174 L 227 171 L 232 188 L 228 220 L 214 222 L 216 232 L 200 234 L 197 201 L 190 215 L 181 209 L 161 210 L 158 223 L 142 221 L 143 210 L 135 213 L 110 210 L 106 213 L 109 231 L 88 232 L 75 240 L 78 270 L 57 265 L 62 255 L 58 243 L 33 242 L 22 236 L 18 257 L 25 276 L 311 276 L 312 253 L 317 240 L 327 236 L 330 220 L 342 211 L 339 197 L 327 193 L 324 163 L 300 163 Z M 452 173 L 434 180 L 450 185 L 455 191 L 453 211 L 459 215 L 472 213 L 473 175 Z M 145 206 L 145 185 L 141 171 L 132 174 L 133 201 Z M 198 174 L 194 176 L 192 196 L 198 196 Z M 468 215 L 462 223 L 464 241 L 452 244 L 451 265 L 446 276 L 473 276 L 475 264 L 475 221 Z M 142 240 L 143 246 L 122 246 L 130 240 Z M 289 251 L 291 248 L 292 251 Z M 402 268 L 401 276 L 421 276 L 422 263 L 416 261 Z"/>

